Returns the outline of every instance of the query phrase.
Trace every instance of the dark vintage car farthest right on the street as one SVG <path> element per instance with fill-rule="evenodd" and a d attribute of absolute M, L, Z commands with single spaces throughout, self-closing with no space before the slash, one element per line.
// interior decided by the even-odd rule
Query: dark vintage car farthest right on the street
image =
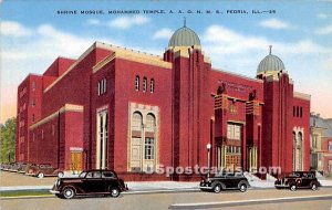
<path fill-rule="evenodd" d="M 291 191 L 295 191 L 298 188 L 317 190 L 321 183 L 315 178 L 314 171 L 293 171 L 277 179 L 274 187 L 277 189 L 289 188 Z"/>

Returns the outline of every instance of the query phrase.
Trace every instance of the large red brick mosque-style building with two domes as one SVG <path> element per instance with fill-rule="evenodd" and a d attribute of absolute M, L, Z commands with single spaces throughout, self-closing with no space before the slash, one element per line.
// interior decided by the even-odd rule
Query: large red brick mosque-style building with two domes
<path fill-rule="evenodd" d="M 95 42 L 18 87 L 17 160 L 63 169 L 310 165 L 310 96 L 270 53 L 257 77 L 217 70 L 187 27 L 164 56 Z M 190 176 L 175 175 L 183 179 Z M 191 176 L 193 177 L 193 176 Z"/>

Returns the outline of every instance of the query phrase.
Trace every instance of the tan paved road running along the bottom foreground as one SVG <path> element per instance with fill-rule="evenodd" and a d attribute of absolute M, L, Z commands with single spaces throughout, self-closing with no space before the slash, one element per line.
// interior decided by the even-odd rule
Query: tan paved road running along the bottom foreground
<path fill-rule="evenodd" d="M 309 197 L 325 198 L 309 198 Z M 288 201 L 280 201 L 280 198 L 293 198 Z M 303 200 L 304 198 L 304 200 Z M 255 203 L 250 200 L 255 199 Z M 266 199 L 271 199 L 266 202 Z M 222 209 L 263 209 L 263 210 L 287 210 L 287 209 L 318 209 L 331 210 L 332 207 L 332 189 L 322 188 L 318 191 L 298 190 L 291 192 L 289 190 L 248 190 L 247 192 L 227 191 L 219 195 L 209 192 L 177 192 L 177 193 L 149 193 L 149 195 L 122 195 L 120 198 L 76 198 L 72 200 L 51 198 L 30 198 L 30 199 L 2 199 L 1 210 L 59 210 L 59 209 L 144 209 L 144 210 L 163 210 L 178 209 L 176 204 L 198 203 L 194 207 L 184 209 L 220 209 L 220 206 L 201 206 L 207 202 L 229 202 L 242 201 L 242 203 L 234 206 L 226 204 Z M 200 206 L 199 206 L 200 203 Z"/>

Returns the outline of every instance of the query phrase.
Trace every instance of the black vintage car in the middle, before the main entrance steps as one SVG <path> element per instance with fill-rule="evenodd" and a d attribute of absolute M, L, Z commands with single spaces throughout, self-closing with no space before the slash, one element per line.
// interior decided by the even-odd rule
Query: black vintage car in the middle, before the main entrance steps
<path fill-rule="evenodd" d="M 216 193 L 226 189 L 238 189 L 245 192 L 248 187 L 250 185 L 242 172 L 219 172 L 212 178 L 201 180 L 199 183 L 201 191 L 214 191 Z"/>

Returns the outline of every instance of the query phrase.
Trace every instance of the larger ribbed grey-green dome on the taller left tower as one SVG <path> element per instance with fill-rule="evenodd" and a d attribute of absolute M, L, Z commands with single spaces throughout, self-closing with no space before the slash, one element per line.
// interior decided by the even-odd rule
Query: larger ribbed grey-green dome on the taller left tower
<path fill-rule="evenodd" d="M 193 46 L 200 45 L 198 35 L 191 29 L 184 25 L 172 35 L 168 46 Z"/>

